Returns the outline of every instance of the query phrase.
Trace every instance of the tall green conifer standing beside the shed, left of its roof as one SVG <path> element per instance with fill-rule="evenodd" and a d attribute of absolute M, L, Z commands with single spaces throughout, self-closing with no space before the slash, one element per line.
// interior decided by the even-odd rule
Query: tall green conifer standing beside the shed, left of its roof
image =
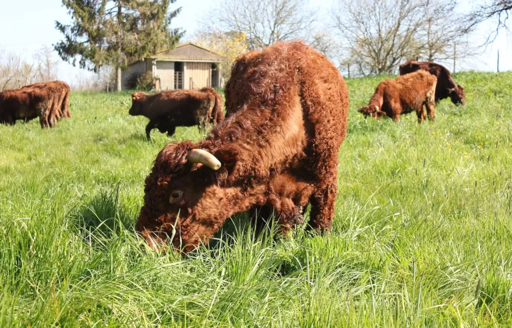
<path fill-rule="evenodd" d="M 70 25 L 55 22 L 64 39 L 54 45 L 62 60 L 94 72 L 103 65 L 116 69 L 121 90 L 121 70 L 130 62 L 172 48 L 183 35 L 170 29 L 180 8 L 169 12 L 176 0 L 62 0 L 73 18 Z"/>

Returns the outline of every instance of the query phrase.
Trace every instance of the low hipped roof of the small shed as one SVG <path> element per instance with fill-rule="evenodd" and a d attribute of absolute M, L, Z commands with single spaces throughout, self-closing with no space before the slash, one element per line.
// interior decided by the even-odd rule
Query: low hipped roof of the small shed
<path fill-rule="evenodd" d="M 219 62 L 222 57 L 206 48 L 196 45 L 195 43 L 188 42 L 183 45 L 179 45 L 170 50 L 160 51 L 147 58 L 151 59 L 166 59 L 166 60 L 201 60 Z"/>

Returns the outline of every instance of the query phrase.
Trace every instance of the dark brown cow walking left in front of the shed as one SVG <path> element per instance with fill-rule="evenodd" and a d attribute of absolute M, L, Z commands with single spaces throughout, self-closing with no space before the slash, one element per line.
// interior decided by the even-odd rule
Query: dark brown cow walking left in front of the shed
<path fill-rule="evenodd" d="M 206 128 L 210 123 L 224 120 L 222 97 L 212 88 L 201 90 L 162 91 L 155 95 L 143 92 L 132 94 L 129 114 L 142 115 L 150 119 L 146 126 L 146 137 L 151 139 L 151 130 L 174 135 L 176 126 Z"/>

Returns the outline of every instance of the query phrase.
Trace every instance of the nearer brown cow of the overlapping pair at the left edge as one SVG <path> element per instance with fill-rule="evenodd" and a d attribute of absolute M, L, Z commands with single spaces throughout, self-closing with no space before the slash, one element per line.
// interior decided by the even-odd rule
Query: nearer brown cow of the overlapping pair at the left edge
<path fill-rule="evenodd" d="M 0 93 L 0 123 L 14 125 L 16 120 L 39 117 L 41 127 L 53 127 L 54 93 L 45 88 L 7 90 Z"/>

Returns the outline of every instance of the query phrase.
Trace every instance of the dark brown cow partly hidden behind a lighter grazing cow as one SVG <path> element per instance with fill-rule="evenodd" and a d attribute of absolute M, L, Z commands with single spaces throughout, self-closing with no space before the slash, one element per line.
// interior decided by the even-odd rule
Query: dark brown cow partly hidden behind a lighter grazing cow
<path fill-rule="evenodd" d="M 400 75 L 418 70 L 427 71 L 437 77 L 436 102 L 450 97 L 456 105 L 466 105 L 464 87 L 456 84 L 452 74 L 444 66 L 430 61 L 409 60 L 400 65 Z"/>

